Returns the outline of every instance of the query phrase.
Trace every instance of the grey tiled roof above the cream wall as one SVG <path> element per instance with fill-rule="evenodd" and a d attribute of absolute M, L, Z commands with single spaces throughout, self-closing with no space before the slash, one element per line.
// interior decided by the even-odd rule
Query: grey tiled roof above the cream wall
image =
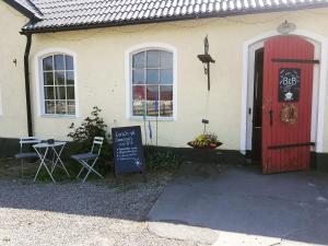
<path fill-rule="evenodd" d="M 25 33 L 328 7 L 328 0 L 15 0 L 42 15 Z M 30 4 L 28 4 L 30 2 Z M 26 8 L 30 8 L 26 7 Z"/>

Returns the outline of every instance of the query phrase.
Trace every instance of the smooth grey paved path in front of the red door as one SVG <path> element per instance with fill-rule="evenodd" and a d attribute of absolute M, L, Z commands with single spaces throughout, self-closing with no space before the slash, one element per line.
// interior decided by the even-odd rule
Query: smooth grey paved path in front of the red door
<path fill-rule="evenodd" d="M 216 246 L 328 245 L 328 174 L 189 164 L 148 218 L 160 236 Z"/>

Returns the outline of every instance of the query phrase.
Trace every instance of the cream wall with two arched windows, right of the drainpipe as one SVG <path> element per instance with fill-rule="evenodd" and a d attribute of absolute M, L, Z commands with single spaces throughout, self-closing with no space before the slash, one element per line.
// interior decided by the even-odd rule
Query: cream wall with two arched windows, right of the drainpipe
<path fill-rule="evenodd" d="M 300 30 L 328 37 L 327 14 L 328 9 L 321 9 L 36 34 L 33 36 L 31 52 L 34 130 L 44 139 L 67 139 L 70 124 L 81 122 L 95 105 L 103 109 L 102 115 L 109 127 L 142 125 L 142 121 L 126 118 L 126 95 L 129 89 L 126 87 L 125 52 L 142 43 L 165 43 L 177 49 L 178 112 L 176 120 L 159 122 L 160 145 L 186 147 L 187 141 L 202 132 L 201 119 L 207 118 L 210 120 L 208 130 L 219 134 L 224 142 L 223 147 L 238 150 L 244 42 L 274 31 L 284 20 L 295 23 Z M 202 42 L 207 34 L 210 54 L 216 60 L 211 66 L 210 92 L 207 91 L 203 67 L 197 59 L 197 55 L 203 52 Z M 23 48 L 24 44 L 21 46 Z M 35 56 L 54 47 L 77 54 L 77 92 L 80 101 L 77 118 L 54 118 L 37 114 L 39 91 L 36 86 Z M 20 72 L 23 72 L 23 68 Z M 328 97 L 328 86 L 326 95 Z M 24 98 L 23 95 L 21 98 Z M 23 114 L 25 112 L 20 115 L 15 113 L 16 117 Z M 12 125 L 16 122 L 11 120 Z M 153 130 L 154 126 L 153 122 Z M 328 152 L 328 120 L 324 132 L 324 151 Z"/>

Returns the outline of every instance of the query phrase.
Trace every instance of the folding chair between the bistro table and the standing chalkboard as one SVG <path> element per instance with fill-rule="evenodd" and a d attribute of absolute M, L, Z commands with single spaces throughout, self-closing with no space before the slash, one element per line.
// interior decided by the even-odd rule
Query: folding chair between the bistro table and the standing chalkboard
<path fill-rule="evenodd" d="M 87 173 L 86 173 L 85 177 L 83 178 L 83 183 L 85 181 L 85 179 L 87 178 L 87 176 L 91 172 L 95 173 L 101 178 L 104 178 L 93 167 L 94 164 L 97 162 L 99 155 L 101 155 L 101 150 L 102 150 L 103 142 L 104 142 L 103 137 L 95 137 L 94 140 L 93 140 L 91 152 L 82 153 L 82 154 L 75 154 L 75 155 L 71 156 L 72 159 L 74 159 L 75 161 L 78 161 L 82 165 L 82 168 L 81 168 L 80 173 L 78 174 L 77 178 L 80 177 L 83 169 L 87 169 Z"/>

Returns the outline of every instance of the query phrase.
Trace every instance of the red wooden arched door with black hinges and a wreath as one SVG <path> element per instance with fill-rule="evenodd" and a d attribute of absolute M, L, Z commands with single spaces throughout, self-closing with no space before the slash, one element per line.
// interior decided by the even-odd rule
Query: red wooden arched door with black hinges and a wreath
<path fill-rule="evenodd" d="M 262 172 L 309 167 L 314 45 L 296 36 L 265 43 Z"/>

